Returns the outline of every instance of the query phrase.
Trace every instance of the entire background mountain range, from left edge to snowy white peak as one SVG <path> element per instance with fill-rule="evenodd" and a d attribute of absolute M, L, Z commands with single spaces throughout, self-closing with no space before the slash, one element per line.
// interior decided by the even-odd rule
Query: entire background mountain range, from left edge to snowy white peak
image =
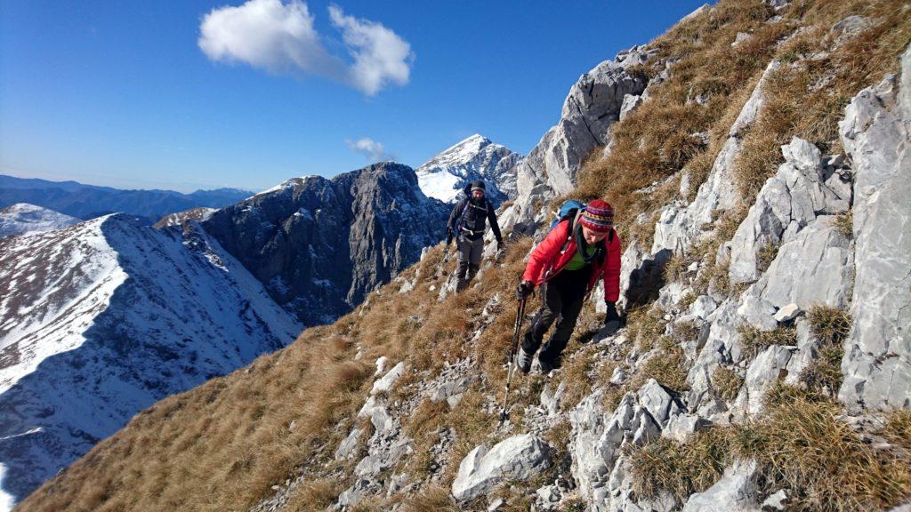
<path fill-rule="evenodd" d="M 434 174 L 486 176 L 496 194 L 501 181 L 487 171 L 510 154 L 473 138 L 432 160 Z M 499 176 L 515 183 L 514 172 Z M 77 220 L 7 209 L 19 232 L 46 232 L 0 239 L 0 510 L 149 404 L 350 312 L 443 238 L 451 210 L 394 162 L 255 195 L 0 177 L 0 197 L 24 194 L 74 216 L 102 201 L 132 215 L 53 230 L 49 220 Z M 200 206 L 231 194 L 241 200 Z"/>

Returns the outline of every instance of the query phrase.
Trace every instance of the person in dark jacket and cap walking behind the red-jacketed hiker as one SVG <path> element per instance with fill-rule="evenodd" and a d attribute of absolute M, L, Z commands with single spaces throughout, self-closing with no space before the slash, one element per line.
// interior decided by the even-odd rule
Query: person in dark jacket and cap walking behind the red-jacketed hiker
<path fill-rule="evenodd" d="M 446 245 L 455 238 L 455 247 L 458 249 L 456 292 L 465 290 L 481 268 L 487 220 L 490 220 L 490 229 L 494 230 L 496 249 L 499 250 L 503 245 L 500 227 L 496 223 L 496 211 L 494 205 L 484 197 L 484 188 L 484 181 L 472 181 L 465 189 L 466 197 L 455 205 L 446 224 Z"/>

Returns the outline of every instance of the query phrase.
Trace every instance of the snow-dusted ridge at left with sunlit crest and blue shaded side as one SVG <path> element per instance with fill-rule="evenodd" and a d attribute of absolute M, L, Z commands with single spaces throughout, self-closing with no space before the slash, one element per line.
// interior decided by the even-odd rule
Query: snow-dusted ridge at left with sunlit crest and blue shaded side
<path fill-rule="evenodd" d="M 148 405 L 301 329 L 198 226 L 126 215 L 3 239 L 0 290 L 8 507 Z"/>

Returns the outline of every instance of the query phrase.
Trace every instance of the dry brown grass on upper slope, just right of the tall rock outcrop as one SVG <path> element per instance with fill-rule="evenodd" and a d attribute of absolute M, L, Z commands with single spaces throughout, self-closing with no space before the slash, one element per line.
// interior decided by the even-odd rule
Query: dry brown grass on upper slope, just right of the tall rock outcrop
<path fill-rule="evenodd" d="M 764 24 L 769 16 L 771 10 L 759 1 L 721 2 L 709 15 L 656 39 L 652 46 L 659 50 L 659 59 L 655 62 L 676 60 L 671 76 L 653 87 L 649 101 L 613 126 L 610 155 L 587 162 L 580 173 L 580 195 L 606 197 L 627 220 L 619 222 L 621 228 L 630 229 L 629 220 L 679 195 L 679 181 L 658 193 L 636 190 L 687 169 L 694 193 L 736 116 L 732 111 L 739 111 L 749 97 L 744 91 L 752 89 L 773 55 L 775 41 L 788 30 L 785 24 Z M 732 47 L 737 32 L 752 32 L 752 40 Z M 698 95 L 707 97 L 704 105 L 692 101 Z M 732 108 L 732 102 L 739 106 Z M 726 126 L 721 127 L 722 123 Z M 707 144 L 695 135 L 700 132 L 709 134 Z M 650 246 L 649 230 L 624 234 Z"/>

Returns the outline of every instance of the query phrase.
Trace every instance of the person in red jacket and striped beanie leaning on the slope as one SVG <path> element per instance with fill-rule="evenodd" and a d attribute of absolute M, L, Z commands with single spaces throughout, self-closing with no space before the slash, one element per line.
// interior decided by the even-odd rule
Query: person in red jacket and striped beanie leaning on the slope
<path fill-rule="evenodd" d="M 582 303 L 599 279 L 604 281 L 604 299 L 608 302 L 605 327 L 611 332 L 619 329 L 616 302 L 621 250 L 613 224 L 614 210 L 610 205 L 603 200 L 593 200 L 576 214 L 575 219 L 560 220 L 531 251 L 518 285 L 517 298 L 520 301 L 527 299 L 535 285 L 541 285 L 544 304 L 516 354 L 516 366 L 523 374 L 531 369 L 531 360 L 541 346 L 544 334 L 558 318 L 557 328 L 537 360 L 543 374 L 560 367 L 561 353 L 576 327 Z"/>

